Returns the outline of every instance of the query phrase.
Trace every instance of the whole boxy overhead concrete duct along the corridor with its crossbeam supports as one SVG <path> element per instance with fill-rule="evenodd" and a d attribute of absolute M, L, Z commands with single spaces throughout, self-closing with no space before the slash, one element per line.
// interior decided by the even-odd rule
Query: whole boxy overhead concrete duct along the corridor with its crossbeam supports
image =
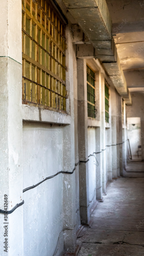
<path fill-rule="evenodd" d="M 69 12 L 85 33 L 87 40 L 92 45 L 82 44 L 85 41 L 80 29 L 80 37 L 75 33 L 73 41 L 77 44 L 77 58 L 96 58 L 101 62 L 111 63 L 105 65 L 105 70 L 111 76 L 118 93 L 121 96 L 128 97 L 127 85 L 120 61 L 117 55 L 117 48 L 112 37 L 112 20 L 105 0 L 63 0 Z M 123 21 L 123 23 L 126 23 Z M 78 44 L 80 42 L 80 44 Z"/>

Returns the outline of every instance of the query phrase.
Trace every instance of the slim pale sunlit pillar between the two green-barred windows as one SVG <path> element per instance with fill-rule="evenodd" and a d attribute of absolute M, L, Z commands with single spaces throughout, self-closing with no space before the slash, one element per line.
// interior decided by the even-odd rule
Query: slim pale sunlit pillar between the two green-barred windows
<path fill-rule="evenodd" d="M 103 193 L 106 193 L 106 138 L 105 138 L 105 78 L 101 73 L 101 137 L 102 137 L 102 188 Z"/>

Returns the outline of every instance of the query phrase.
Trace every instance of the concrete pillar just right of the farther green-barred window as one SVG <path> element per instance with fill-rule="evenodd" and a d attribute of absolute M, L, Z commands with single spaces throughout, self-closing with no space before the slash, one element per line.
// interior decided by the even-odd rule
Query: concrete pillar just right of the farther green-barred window
<path fill-rule="evenodd" d="M 112 126 L 112 173 L 113 178 L 117 178 L 117 97 L 116 89 L 111 89 L 111 126 Z"/>

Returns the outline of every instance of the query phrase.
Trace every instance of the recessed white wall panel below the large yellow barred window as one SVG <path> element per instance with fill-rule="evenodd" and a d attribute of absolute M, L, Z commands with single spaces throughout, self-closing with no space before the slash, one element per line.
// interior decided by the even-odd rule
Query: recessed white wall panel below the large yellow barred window
<path fill-rule="evenodd" d="M 57 125 L 51 127 L 50 124 L 25 122 L 23 188 L 37 184 L 62 169 L 62 129 Z M 57 247 L 63 229 L 62 179 L 63 174 L 59 174 L 23 194 L 24 256 L 52 256 Z M 65 185 L 68 192 L 69 185 Z"/>

